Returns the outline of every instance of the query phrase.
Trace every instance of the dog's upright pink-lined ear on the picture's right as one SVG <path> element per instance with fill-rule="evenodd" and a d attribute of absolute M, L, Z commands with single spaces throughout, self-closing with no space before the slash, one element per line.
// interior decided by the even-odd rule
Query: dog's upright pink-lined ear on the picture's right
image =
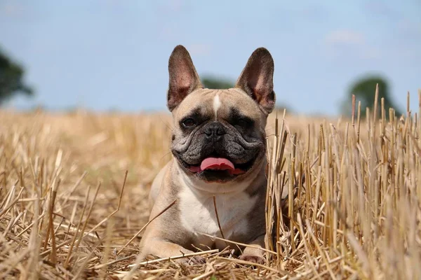
<path fill-rule="evenodd" d="M 235 87 L 255 100 L 266 114 L 274 109 L 274 59 L 266 48 L 256 49 L 244 67 Z"/>

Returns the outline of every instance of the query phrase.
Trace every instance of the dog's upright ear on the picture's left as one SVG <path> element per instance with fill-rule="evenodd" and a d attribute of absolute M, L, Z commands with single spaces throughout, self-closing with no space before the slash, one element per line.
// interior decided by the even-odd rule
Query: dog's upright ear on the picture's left
<path fill-rule="evenodd" d="M 170 111 L 197 88 L 203 88 L 199 75 L 194 68 L 192 57 L 182 45 L 174 48 L 168 61 L 169 87 L 167 106 Z"/>

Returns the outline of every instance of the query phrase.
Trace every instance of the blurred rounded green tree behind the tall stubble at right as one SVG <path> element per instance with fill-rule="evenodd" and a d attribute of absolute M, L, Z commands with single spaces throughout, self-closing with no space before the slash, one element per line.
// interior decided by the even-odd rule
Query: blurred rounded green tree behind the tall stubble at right
<path fill-rule="evenodd" d="M 401 116 L 401 112 L 394 104 L 392 97 L 390 96 L 389 92 L 389 85 L 387 80 L 381 76 L 366 76 L 359 80 L 356 80 L 349 88 L 347 92 L 347 99 L 342 104 L 342 113 L 347 116 L 351 115 L 352 111 L 352 94 L 355 95 L 355 111 L 358 109 L 358 102 L 361 102 L 361 117 L 364 118 L 366 116 L 366 108 L 370 108 L 370 111 L 373 110 L 374 102 L 375 102 L 375 87 L 379 85 L 379 95 L 378 95 L 378 105 L 377 108 L 379 109 L 377 113 L 381 114 L 380 112 L 380 102 L 381 99 L 385 99 L 385 111 L 388 116 L 389 108 L 394 109 L 396 112 L 396 116 Z"/>

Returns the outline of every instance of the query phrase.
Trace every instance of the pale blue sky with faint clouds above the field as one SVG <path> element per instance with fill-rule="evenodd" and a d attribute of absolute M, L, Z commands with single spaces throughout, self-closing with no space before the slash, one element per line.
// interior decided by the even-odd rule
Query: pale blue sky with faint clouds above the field
<path fill-rule="evenodd" d="M 236 80 L 260 46 L 274 57 L 279 103 L 339 113 L 356 78 L 389 79 L 403 111 L 421 88 L 421 2 L 0 1 L 0 45 L 36 97 L 8 106 L 166 110 L 168 57 L 185 45 L 200 74 Z"/>

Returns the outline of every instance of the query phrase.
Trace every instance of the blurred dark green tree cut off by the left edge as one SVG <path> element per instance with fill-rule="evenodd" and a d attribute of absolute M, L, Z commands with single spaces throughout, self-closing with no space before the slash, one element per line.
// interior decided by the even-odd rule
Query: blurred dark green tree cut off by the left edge
<path fill-rule="evenodd" d="M 15 94 L 34 94 L 34 90 L 23 83 L 25 70 L 0 50 L 0 106 Z"/>

